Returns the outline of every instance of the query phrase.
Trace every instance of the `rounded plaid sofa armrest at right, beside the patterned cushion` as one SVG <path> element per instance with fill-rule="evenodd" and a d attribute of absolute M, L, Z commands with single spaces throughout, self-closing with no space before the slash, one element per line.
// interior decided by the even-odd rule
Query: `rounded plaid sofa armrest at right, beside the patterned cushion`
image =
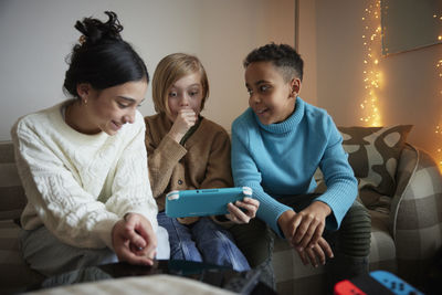
<path fill-rule="evenodd" d="M 397 183 L 389 225 L 398 267 L 403 276 L 419 276 L 442 245 L 442 177 L 428 152 L 407 145 Z"/>

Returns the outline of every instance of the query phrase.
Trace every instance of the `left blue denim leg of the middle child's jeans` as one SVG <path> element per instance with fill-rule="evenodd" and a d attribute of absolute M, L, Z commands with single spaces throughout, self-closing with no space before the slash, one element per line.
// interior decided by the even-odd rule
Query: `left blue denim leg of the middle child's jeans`
<path fill-rule="evenodd" d="M 158 225 L 165 228 L 169 234 L 170 260 L 202 262 L 188 225 L 179 223 L 176 218 L 167 217 L 165 212 L 159 212 L 157 220 Z"/>

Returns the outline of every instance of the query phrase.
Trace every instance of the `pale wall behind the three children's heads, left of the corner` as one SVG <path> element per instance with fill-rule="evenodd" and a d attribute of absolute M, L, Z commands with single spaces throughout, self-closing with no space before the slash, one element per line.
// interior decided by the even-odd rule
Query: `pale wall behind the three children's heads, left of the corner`
<path fill-rule="evenodd" d="M 248 107 L 242 60 L 271 41 L 294 45 L 294 8 L 293 0 L 1 0 L 0 140 L 18 117 L 66 98 L 64 60 L 80 36 L 73 25 L 105 20 L 105 10 L 117 12 L 150 75 L 167 54 L 198 55 L 211 86 L 203 115 L 230 129 Z M 155 113 L 150 87 L 140 112 Z"/>

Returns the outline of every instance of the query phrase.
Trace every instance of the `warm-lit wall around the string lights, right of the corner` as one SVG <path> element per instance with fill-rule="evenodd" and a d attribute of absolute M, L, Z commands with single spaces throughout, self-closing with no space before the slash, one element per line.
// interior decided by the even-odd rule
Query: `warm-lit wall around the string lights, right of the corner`
<path fill-rule="evenodd" d="M 301 6 L 308 6 L 301 0 Z M 316 0 L 317 105 L 326 108 L 337 125 L 365 125 L 360 104 L 366 95 L 364 84 L 365 48 L 361 18 L 369 1 Z M 299 9 L 302 11 L 302 9 Z M 376 25 L 372 24 L 372 25 Z M 303 32 L 303 23 L 299 25 Z M 303 33 L 301 33 L 303 36 Z M 303 44 L 303 38 L 299 41 Z M 380 43 L 376 50 L 380 51 Z M 412 124 L 409 141 L 427 149 L 439 160 L 442 146 L 434 131 L 442 119 L 442 83 L 436 62 L 442 45 L 433 45 L 379 59 L 382 83 L 378 89 L 382 125 Z"/>

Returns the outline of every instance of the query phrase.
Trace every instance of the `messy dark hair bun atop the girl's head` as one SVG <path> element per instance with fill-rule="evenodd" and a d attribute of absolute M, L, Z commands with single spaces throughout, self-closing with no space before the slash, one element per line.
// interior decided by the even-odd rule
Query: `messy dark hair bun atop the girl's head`
<path fill-rule="evenodd" d="M 123 25 L 119 23 L 117 14 L 113 11 L 105 11 L 104 13 L 109 17 L 107 22 L 102 22 L 93 18 L 84 18 L 83 21 L 75 23 L 75 29 L 84 35 L 84 43 L 93 45 L 103 41 L 122 40 L 119 32 L 123 31 Z"/>

